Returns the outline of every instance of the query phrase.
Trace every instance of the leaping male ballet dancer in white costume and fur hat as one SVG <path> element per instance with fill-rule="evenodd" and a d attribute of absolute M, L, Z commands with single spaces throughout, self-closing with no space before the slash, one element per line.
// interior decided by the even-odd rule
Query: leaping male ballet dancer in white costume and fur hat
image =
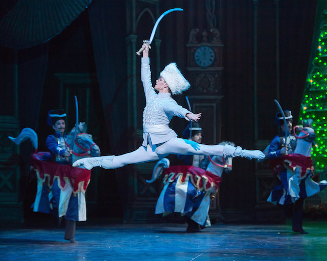
<path fill-rule="evenodd" d="M 176 63 L 170 63 L 160 73 L 154 88 L 151 83 L 149 45 L 145 41 L 143 58 L 141 59 L 141 80 L 144 87 L 146 107 L 143 112 L 143 143 L 135 151 L 115 156 L 100 156 L 84 158 L 76 161 L 74 167 L 84 167 L 88 170 L 94 167 L 116 169 L 128 164 L 145 163 L 165 158 L 169 154 L 182 155 L 218 155 L 264 159 L 265 154 L 260 150 L 246 150 L 240 146 L 205 145 L 194 141 L 177 138 L 177 134 L 168 124 L 173 116 L 185 118 L 188 121 L 198 121 L 201 113 L 192 112 L 179 106 L 171 97 L 190 88 L 190 84 L 181 74 Z M 156 93 L 157 91 L 158 93 Z"/>

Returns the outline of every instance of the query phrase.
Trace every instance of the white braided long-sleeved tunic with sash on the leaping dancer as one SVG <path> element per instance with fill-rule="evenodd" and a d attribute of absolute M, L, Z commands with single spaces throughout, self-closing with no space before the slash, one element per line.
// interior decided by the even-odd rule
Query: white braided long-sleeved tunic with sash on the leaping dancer
<path fill-rule="evenodd" d="M 173 116 L 186 118 L 189 110 L 179 106 L 170 93 L 157 94 L 152 86 L 150 58 L 141 60 L 141 80 L 143 83 L 146 107 L 143 111 L 143 143 L 156 145 L 164 143 L 177 134 L 168 126 Z"/>

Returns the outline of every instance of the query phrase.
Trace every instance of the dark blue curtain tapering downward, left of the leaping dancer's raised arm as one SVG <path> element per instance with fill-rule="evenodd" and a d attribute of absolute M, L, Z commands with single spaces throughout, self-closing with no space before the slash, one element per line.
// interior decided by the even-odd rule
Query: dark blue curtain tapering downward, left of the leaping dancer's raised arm
<path fill-rule="evenodd" d="M 125 36 L 121 30 L 125 29 L 125 24 L 119 22 L 117 16 L 122 10 L 119 1 L 94 1 L 88 8 L 89 23 L 96 63 L 99 89 L 101 93 L 102 106 L 105 114 L 110 147 L 113 148 L 112 136 L 118 137 L 118 125 L 112 125 L 112 121 L 120 120 L 121 111 L 113 109 L 114 102 L 120 103 L 116 98 L 119 86 L 118 75 L 125 73 L 125 57 L 119 57 L 120 49 L 125 48 Z M 114 113 L 113 113 L 114 112 Z M 114 133 L 114 135 L 113 135 Z"/>

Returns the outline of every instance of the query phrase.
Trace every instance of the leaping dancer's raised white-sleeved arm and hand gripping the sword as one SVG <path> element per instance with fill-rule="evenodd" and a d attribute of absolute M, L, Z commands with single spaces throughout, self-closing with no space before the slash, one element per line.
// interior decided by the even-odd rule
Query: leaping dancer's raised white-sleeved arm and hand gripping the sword
<path fill-rule="evenodd" d="M 143 57 L 141 58 L 141 81 L 143 83 L 145 99 L 148 101 L 156 92 L 151 82 L 149 45 L 144 43 L 143 47 L 145 47 L 145 49 L 143 51 Z"/>

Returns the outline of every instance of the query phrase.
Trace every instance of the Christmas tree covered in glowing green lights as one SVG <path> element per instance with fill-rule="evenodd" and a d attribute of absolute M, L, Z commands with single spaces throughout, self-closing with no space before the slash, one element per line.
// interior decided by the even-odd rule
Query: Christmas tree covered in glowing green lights
<path fill-rule="evenodd" d="M 316 145 L 312 148 L 312 158 L 316 170 L 327 166 L 327 10 L 322 12 L 322 24 L 317 43 L 316 56 L 308 75 L 303 93 L 300 118 L 313 119 Z"/>

